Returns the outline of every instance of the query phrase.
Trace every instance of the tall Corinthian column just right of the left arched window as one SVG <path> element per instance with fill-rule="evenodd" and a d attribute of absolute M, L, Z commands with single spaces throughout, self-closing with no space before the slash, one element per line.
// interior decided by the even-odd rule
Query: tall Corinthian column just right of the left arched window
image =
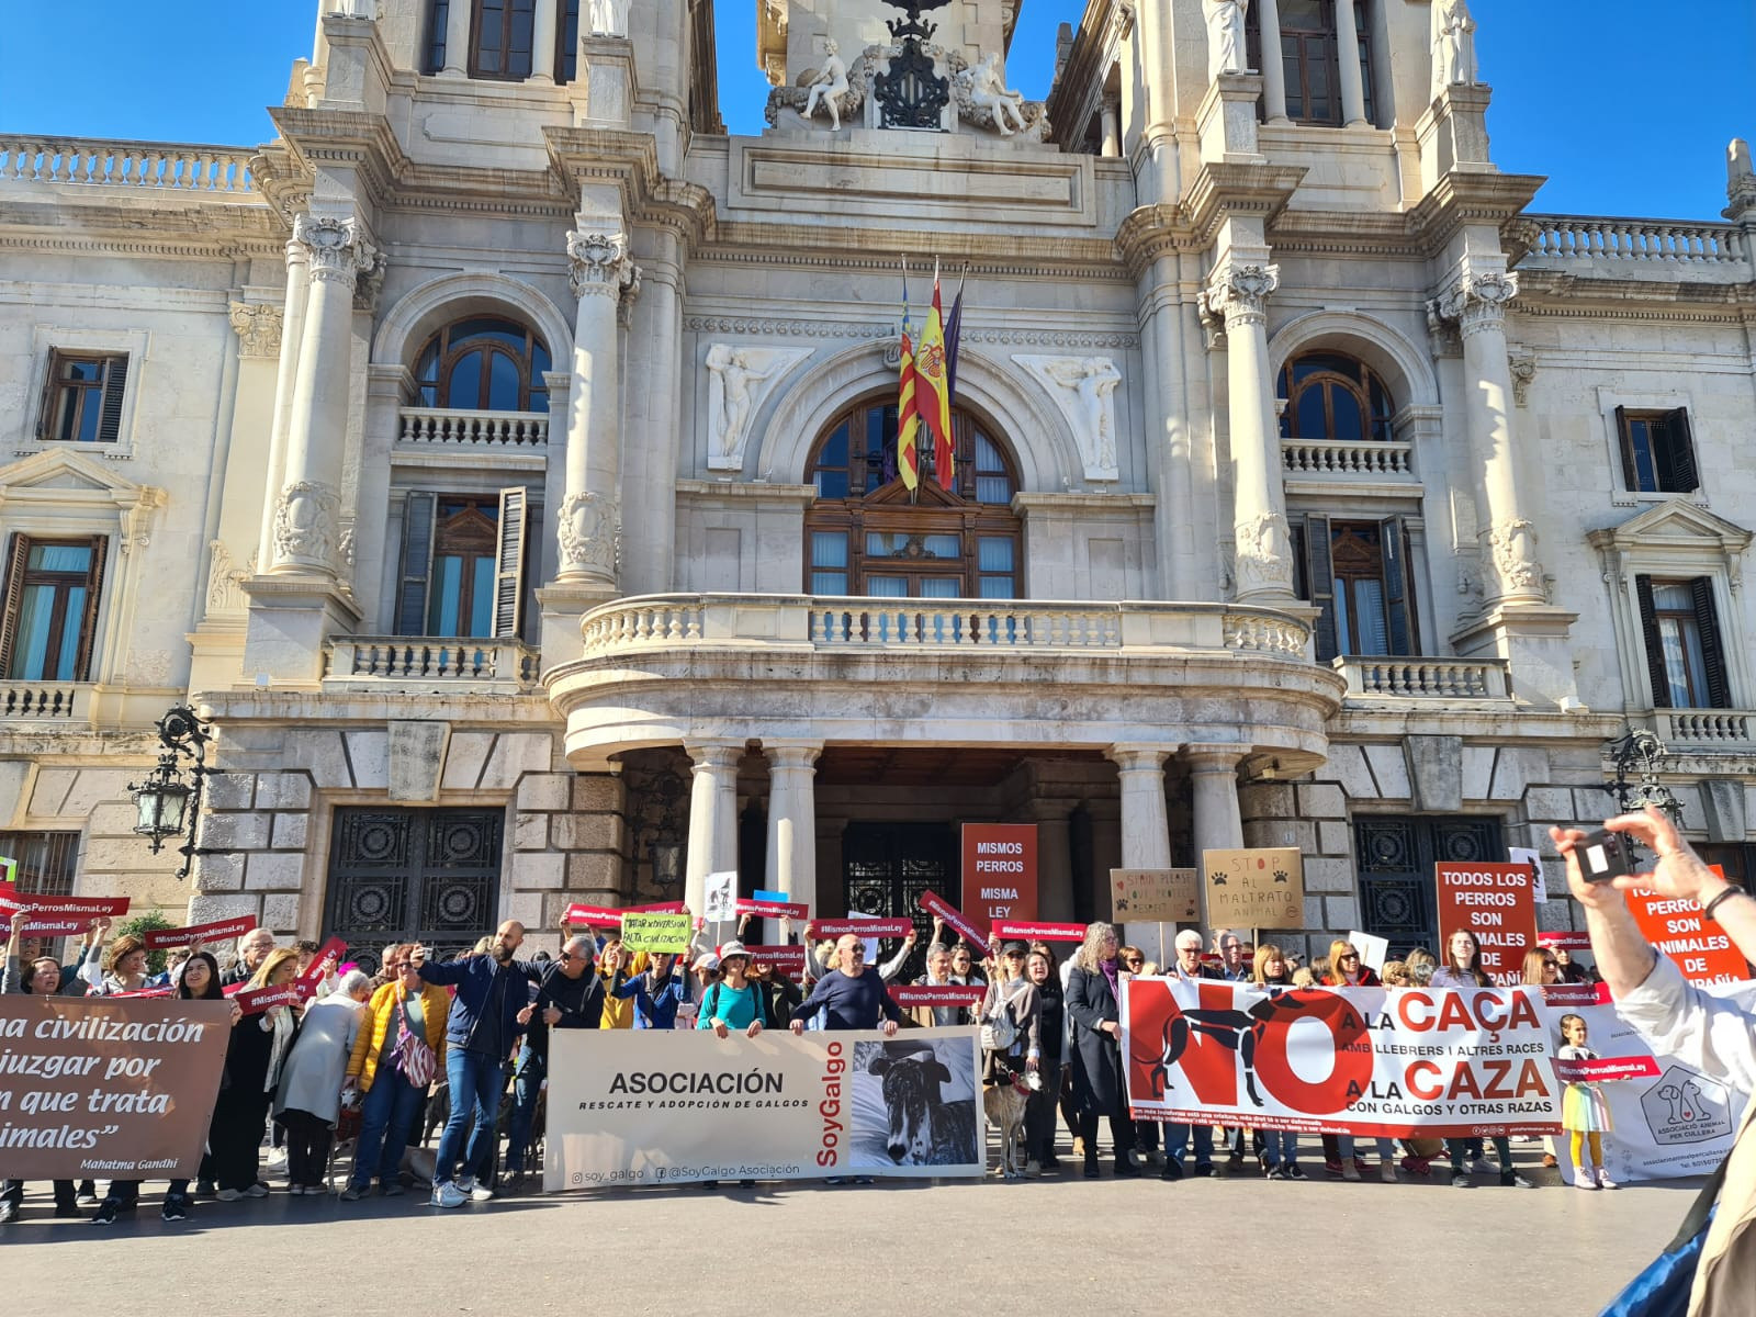
<path fill-rule="evenodd" d="M 567 234 L 567 262 L 579 313 L 572 334 L 567 397 L 567 497 L 557 515 L 558 581 L 616 588 L 622 469 L 622 365 L 616 307 L 639 288 L 622 234 Z"/>

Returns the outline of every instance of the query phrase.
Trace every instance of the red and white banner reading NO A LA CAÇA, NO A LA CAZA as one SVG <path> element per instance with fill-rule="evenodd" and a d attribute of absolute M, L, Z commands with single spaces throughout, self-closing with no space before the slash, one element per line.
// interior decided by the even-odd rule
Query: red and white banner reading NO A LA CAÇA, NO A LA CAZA
<path fill-rule="evenodd" d="M 1324 1134 L 1549 1134 L 1561 1085 L 1538 989 L 1122 983 L 1136 1119 Z"/>

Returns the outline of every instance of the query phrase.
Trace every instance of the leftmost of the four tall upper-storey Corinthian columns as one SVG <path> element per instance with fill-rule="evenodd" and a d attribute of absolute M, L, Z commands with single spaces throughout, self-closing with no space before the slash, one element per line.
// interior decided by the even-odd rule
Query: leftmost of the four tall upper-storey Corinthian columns
<path fill-rule="evenodd" d="M 355 218 L 300 214 L 293 242 L 311 262 L 311 291 L 286 421 L 284 478 L 276 493 L 269 574 L 337 579 L 353 291 L 379 256 Z"/>

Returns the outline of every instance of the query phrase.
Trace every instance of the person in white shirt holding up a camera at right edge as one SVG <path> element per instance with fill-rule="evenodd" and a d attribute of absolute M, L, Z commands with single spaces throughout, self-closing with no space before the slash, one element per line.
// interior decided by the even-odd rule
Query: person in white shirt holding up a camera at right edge
<path fill-rule="evenodd" d="M 1591 954 L 1617 1015 L 1656 1054 L 1677 1057 L 1744 1092 L 1756 1090 L 1756 1013 L 1686 982 L 1677 964 L 1640 936 L 1626 894 L 1649 889 L 1675 901 L 1693 901 L 1703 924 L 1714 924 L 1745 961 L 1756 961 L 1756 899 L 1702 864 L 1658 810 L 1612 818 L 1605 829 L 1654 852 L 1652 871 L 1587 883 L 1579 867 L 1586 834 L 1556 827 L 1549 836 L 1566 860 L 1568 890 L 1586 908 Z M 1737 1143 L 1721 1173 L 1712 1224 L 1696 1231 L 1702 1243 L 1689 1317 L 1747 1312 L 1756 1294 L 1756 1101 L 1744 1108 Z"/>

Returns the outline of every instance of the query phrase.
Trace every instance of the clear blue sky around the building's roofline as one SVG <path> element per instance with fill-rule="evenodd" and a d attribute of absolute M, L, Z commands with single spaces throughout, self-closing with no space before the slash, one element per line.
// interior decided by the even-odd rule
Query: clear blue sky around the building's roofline
<path fill-rule="evenodd" d="M 1150 0 L 1148 0 L 1150 2 Z M 1161 0 L 1162 2 L 1162 0 Z M 1173 0 L 1194 4 L 1194 0 Z M 759 0 L 720 0 L 720 105 L 760 132 Z M 1724 148 L 1756 135 L 1751 0 L 1472 0 L 1501 169 L 1547 174 L 1535 209 L 1714 220 Z M 309 53 L 316 0 L 165 7 L 81 0 L 77 42 L 56 5 L 7 5 L 0 132 L 255 144 L 263 107 Z M 1022 0 L 1008 81 L 1048 90 L 1055 28 L 1083 0 Z M 91 39 L 102 33 L 100 40 Z M 81 49 L 79 76 L 51 58 Z"/>

